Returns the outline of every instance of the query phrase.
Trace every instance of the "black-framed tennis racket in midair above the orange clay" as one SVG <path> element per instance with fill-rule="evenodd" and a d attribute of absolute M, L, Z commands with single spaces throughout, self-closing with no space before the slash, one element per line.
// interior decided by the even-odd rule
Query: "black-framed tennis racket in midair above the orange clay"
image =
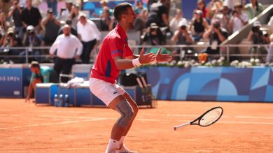
<path fill-rule="evenodd" d="M 210 110 L 207 110 L 207 112 L 204 112 L 204 114 L 202 114 L 200 117 L 193 120 L 192 122 L 174 126 L 174 130 L 189 125 L 199 125 L 202 127 L 210 126 L 221 118 L 221 116 L 223 115 L 223 111 L 224 111 L 223 108 L 221 108 L 220 106 L 211 108 Z"/>

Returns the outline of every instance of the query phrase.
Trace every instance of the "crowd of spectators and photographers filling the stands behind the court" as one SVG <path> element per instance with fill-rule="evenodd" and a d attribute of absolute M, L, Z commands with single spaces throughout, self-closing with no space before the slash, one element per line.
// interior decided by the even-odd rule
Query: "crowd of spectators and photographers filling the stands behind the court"
<path fill-rule="evenodd" d="M 10 0 L 12 1 L 12 0 Z M 77 36 L 83 44 L 83 53 L 80 56 L 83 63 L 89 63 L 90 52 L 97 48 L 102 41 L 101 31 L 111 31 L 116 27 L 113 10 L 107 1 L 102 0 L 100 14 L 93 14 L 99 22 L 92 22 L 88 17 L 81 15 L 82 3 L 66 1 L 66 8 L 57 12 L 57 0 L 47 0 L 48 11 L 41 15 L 40 10 L 33 6 L 32 0 L 26 0 L 22 5 L 19 0 L 13 0 L 13 5 L 7 13 L 0 10 L 0 47 L 1 52 L 19 55 L 19 62 L 25 62 L 25 54 L 49 54 L 46 50 L 33 50 L 34 46 L 51 46 L 57 36 L 62 34 L 64 24 L 71 27 L 71 34 Z M 239 3 L 238 3 L 239 2 Z M 177 8 L 175 15 L 170 15 L 171 0 L 148 0 L 146 5 L 141 0 L 134 3 L 137 19 L 132 31 L 141 33 L 141 43 L 137 45 L 193 45 L 198 42 L 209 42 L 210 47 L 202 50 L 207 54 L 219 54 L 219 44 L 228 36 L 239 31 L 253 17 L 264 10 L 258 0 L 204 0 L 197 1 L 197 8 L 193 10 L 193 18 L 183 18 L 183 10 Z M 44 16 L 44 17 L 43 17 Z M 273 18 L 269 21 L 273 23 Z M 247 36 L 248 41 L 254 44 L 269 44 L 269 36 L 260 30 L 260 23 L 253 24 Z M 29 47 L 27 51 L 8 49 L 9 47 Z M 172 53 L 179 54 L 181 50 L 194 48 L 179 48 Z M 264 52 L 253 48 L 251 53 Z M 41 59 L 35 59 L 41 61 Z"/>

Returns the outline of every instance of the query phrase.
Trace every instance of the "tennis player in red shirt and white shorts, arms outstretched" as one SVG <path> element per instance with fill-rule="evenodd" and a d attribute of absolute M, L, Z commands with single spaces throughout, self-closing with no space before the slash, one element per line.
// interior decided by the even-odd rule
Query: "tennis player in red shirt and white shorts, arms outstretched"
<path fill-rule="evenodd" d="M 161 50 L 158 50 L 157 54 L 144 54 L 144 49 L 141 50 L 140 55 L 134 55 L 128 46 L 126 32 L 132 29 L 137 14 L 134 13 L 130 3 L 119 3 L 114 8 L 113 14 L 118 25 L 102 41 L 97 61 L 90 75 L 90 91 L 109 108 L 120 113 L 120 118 L 113 125 L 106 153 L 132 152 L 125 147 L 123 141 L 137 115 L 138 107 L 130 95 L 116 84 L 116 78 L 120 70 L 155 60 L 169 61 L 172 57 L 161 54 Z"/>

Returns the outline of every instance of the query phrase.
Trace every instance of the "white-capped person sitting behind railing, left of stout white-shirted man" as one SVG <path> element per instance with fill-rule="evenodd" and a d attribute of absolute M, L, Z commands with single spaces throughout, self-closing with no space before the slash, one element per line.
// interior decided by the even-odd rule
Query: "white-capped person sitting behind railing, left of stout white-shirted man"
<path fill-rule="evenodd" d="M 38 47 L 41 45 L 41 40 L 38 38 L 34 26 L 29 25 L 27 26 L 27 32 L 25 33 L 25 36 L 22 41 L 22 45 L 28 46 L 27 50 L 25 52 L 20 52 L 20 63 L 25 63 L 25 56 L 28 55 L 34 55 L 34 58 L 29 58 L 30 61 L 41 61 L 41 50 L 34 50 L 33 47 Z"/>

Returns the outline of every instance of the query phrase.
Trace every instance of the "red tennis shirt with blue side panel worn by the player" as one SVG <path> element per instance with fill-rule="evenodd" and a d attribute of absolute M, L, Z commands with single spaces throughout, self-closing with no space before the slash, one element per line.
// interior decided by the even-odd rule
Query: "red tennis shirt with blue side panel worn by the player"
<path fill-rule="evenodd" d="M 115 57 L 130 57 L 133 55 L 128 46 L 127 34 L 118 24 L 102 41 L 97 60 L 92 68 L 90 78 L 97 78 L 110 83 L 116 83 L 119 70 L 115 64 Z"/>

